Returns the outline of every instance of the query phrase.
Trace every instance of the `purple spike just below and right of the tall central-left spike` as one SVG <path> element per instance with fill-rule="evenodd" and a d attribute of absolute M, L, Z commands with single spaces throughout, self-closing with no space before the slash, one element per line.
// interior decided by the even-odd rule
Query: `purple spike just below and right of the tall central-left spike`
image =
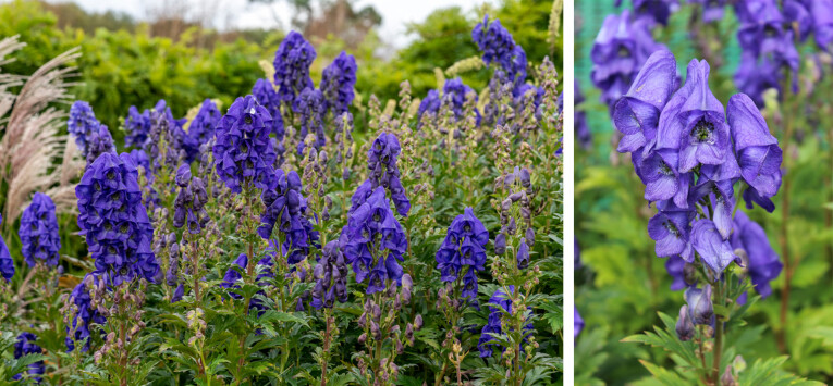
<path fill-rule="evenodd" d="M 296 264 L 309 254 L 309 247 L 317 246 L 318 232 L 307 217 L 307 200 L 301 192 L 301 177 L 295 171 L 279 169 L 274 174 L 275 186 L 264 190 L 260 199 L 266 207 L 260 214 L 258 235 L 269 240 L 274 232 L 283 235 L 283 252 L 290 264 Z"/>

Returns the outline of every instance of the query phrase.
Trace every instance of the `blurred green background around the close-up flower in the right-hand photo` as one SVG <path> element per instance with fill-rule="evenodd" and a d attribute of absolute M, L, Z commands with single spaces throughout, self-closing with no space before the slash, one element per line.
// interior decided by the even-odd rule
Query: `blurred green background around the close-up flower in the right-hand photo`
<path fill-rule="evenodd" d="M 609 14 L 632 9 L 630 1 L 615 7 L 615 0 L 583 0 L 575 5 L 575 73 L 585 101 L 576 111 L 586 116 L 588 142 L 577 139 L 575 160 L 575 234 L 580 256 L 576 261 L 575 303 L 586 322 L 576 338 L 577 385 L 653 385 L 656 379 L 639 361 L 647 360 L 666 368 L 675 366 L 673 358 L 659 348 L 622 343 L 627 336 L 652 331 L 662 325 L 658 312 L 676 319 L 683 302 L 683 290 L 670 289 L 672 277 L 666 273 L 666 259 L 657 258 L 654 241 L 648 236 L 648 220 L 656 213 L 644 199 L 645 185 L 634 173 L 628 154 L 615 151 L 618 137 L 600 102 L 601 92 L 590 80 L 590 50 Z M 683 79 L 691 59 L 702 59 L 698 38 L 690 23 L 699 12 L 690 1 L 681 0 L 667 26 L 653 28 L 653 38 L 665 45 L 677 60 Z M 726 2 L 731 3 L 731 2 Z M 711 47 L 718 50 L 710 58 L 709 85 L 724 103 L 737 94 L 733 76 L 740 60 L 736 32 L 737 17 L 731 5 L 725 15 L 709 29 Z M 814 79 L 814 63 L 831 67 L 829 55 L 814 47 L 799 48 L 801 70 L 799 84 L 806 97 L 797 123 L 797 140 L 784 149 L 785 163 L 792 165 L 792 185 L 782 185 L 773 198 L 773 213 L 756 207 L 743 210 L 767 232 L 772 248 L 783 261 L 783 238 L 791 240 L 789 254 L 794 272 L 787 301 L 786 325 L 781 307 L 785 271 L 772 281 L 774 292 L 757 302 L 746 320 L 750 328 L 735 336 L 735 345 L 747 363 L 759 358 L 788 356 L 784 369 L 811 379 L 833 381 L 833 151 L 831 150 L 830 90 L 831 76 Z M 811 63 L 812 62 L 812 63 Z M 811 86 L 812 85 L 812 86 Z M 816 89 L 812 94 L 812 89 Z M 769 101 L 768 101 L 769 103 Z M 775 102 L 776 103 L 776 102 Z M 777 109 L 777 107 L 775 107 Z M 781 117 L 764 113 L 770 130 L 779 137 L 784 128 Z M 774 116 L 774 119 L 772 119 Z M 789 195 L 788 219 L 782 213 L 785 191 Z M 784 219 L 787 219 L 785 222 Z"/>

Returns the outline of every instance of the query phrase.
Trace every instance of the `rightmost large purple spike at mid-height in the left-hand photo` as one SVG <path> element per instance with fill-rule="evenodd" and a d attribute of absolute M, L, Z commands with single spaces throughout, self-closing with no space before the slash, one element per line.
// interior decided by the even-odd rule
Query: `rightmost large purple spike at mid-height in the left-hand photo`
<path fill-rule="evenodd" d="M 477 299 L 477 272 L 486 269 L 489 231 L 468 207 L 449 225 L 445 239 L 434 256 L 443 282 L 461 281 L 461 297 Z"/>

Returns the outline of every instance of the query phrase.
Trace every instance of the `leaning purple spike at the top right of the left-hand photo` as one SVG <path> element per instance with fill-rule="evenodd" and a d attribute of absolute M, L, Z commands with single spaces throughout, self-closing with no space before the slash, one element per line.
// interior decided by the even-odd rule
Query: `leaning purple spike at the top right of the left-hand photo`
<path fill-rule="evenodd" d="M 500 20 L 489 22 L 489 15 L 486 15 L 482 23 L 478 23 L 471 30 L 471 39 L 483 53 L 482 60 L 486 65 L 498 63 L 514 88 L 524 84 L 526 52 L 520 45 L 515 43 L 512 34 L 501 25 Z"/>

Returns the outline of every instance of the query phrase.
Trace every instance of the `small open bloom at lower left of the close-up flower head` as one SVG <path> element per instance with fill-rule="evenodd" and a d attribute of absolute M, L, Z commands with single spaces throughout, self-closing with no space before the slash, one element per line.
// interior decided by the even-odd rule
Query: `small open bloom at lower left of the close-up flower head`
<path fill-rule="evenodd" d="M 657 241 L 656 252 L 660 258 L 679 256 L 693 262 L 691 220 L 697 212 L 681 209 L 671 201 L 658 203 L 659 212 L 648 221 L 648 235 Z"/>

